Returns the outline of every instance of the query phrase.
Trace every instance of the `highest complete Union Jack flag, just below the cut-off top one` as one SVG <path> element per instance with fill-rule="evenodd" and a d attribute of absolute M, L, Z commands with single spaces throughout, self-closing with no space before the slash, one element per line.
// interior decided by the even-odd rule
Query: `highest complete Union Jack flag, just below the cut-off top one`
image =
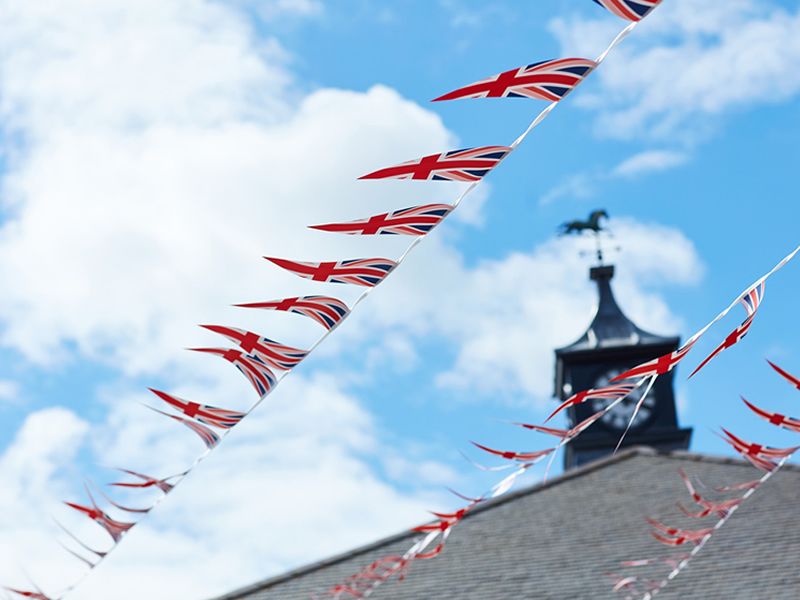
<path fill-rule="evenodd" d="M 562 58 L 533 63 L 477 81 L 436 98 L 538 98 L 558 102 L 597 66 L 585 58 Z"/>

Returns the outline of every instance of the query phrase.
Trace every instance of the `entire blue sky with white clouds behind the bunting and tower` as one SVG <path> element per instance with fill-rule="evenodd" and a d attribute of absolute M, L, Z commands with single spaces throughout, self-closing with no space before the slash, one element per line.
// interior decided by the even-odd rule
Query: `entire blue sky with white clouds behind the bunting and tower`
<path fill-rule="evenodd" d="M 596 56 L 624 25 L 589 0 L 74 4 L 9 2 L 0 46 L 0 556 L 54 588 L 80 569 L 42 520 L 69 519 L 57 501 L 77 498 L 82 476 L 109 481 L 120 461 L 168 474 L 200 450 L 140 409 L 146 386 L 251 401 L 229 365 L 182 352 L 220 341 L 195 323 L 303 345 L 314 324 L 227 305 L 354 298 L 260 256 L 399 255 L 407 240 L 303 225 L 453 200 L 457 185 L 354 180 L 510 143 L 541 103 L 429 100 L 537 60 Z M 800 214 L 800 13 L 721 5 L 667 0 L 76 597 L 120 582 L 131 597 L 221 592 L 424 519 L 449 502 L 444 484 L 481 491 L 491 478 L 458 454 L 469 439 L 546 443 L 503 421 L 545 416 L 552 349 L 591 317 L 590 259 L 556 238 L 563 221 L 606 208 L 620 304 L 684 338 L 787 254 Z M 680 369 L 693 450 L 725 453 L 721 424 L 788 443 L 737 396 L 792 414 L 791 389 L 763 359 L 800 371 L 797 269 L 770 281 L 743 344 L 691 383 Z M 739 319 L 712 330 L 697 361 Z M 186 590 L 168 567 L 187 556 L 231 576 L 205 569 Z M 20 577 L 16 565 L 2 575 Z"/>

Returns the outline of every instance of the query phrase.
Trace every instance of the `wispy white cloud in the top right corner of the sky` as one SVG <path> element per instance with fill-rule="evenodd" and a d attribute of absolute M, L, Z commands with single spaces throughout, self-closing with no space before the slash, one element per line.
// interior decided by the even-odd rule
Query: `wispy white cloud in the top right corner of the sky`
<path fill-rule="evenodd" d="M 674 0 L 642 22 L 576 102 L 608 136 L 695 140 L 737 108 L 800 92 L 800 10 L 772 2 Z M 556 19 L 564 52 L 588 56 L 613 38 L 608 19 Z"/>

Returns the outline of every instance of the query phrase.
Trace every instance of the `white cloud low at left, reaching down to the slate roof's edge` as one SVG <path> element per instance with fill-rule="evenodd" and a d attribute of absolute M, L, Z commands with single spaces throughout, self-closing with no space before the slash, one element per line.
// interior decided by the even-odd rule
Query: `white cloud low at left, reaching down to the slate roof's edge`
<path fill-rule="evenodd" d="M 229 384 L 180 388 L 195 398 L 238 391 Z M 20 566 L 48 590 L 80 575 L 81 564 L 55 544 L 69 540 L 49 515 L 90 545 L 108 546 L 98 527 L 58 507 L 62 499 L 83 501 L 81 478 L 70 465 L 86 446 L 102 465 L 156 475 L 182 470 L 199 452 L 194 434 L 137 406 L 143 399 L 116 391 L 108 420 L 91 430 L 64 409 L 28 418 L 0 456 L 4 582 L 18 580 Z M 333 379 L 288 380 L 132 531 L 81 586 L 81 597 L 108 598 L 114 590 L 115 600 L 200 600 L 424 520 L 424 509 L 442 502 L 441 477 L 457 477 L 430 459 L 408 464 L 386 440 Z M 390 474 L 413 477 L 409 491 L 384 482 L 368 456 L 377 456 Z M 119 474 L 105 476 L 114 481 Z M 110 493 L 130 506 L 155 497 Z M 187 564 L 188 578 L 179 566 Z"/>

